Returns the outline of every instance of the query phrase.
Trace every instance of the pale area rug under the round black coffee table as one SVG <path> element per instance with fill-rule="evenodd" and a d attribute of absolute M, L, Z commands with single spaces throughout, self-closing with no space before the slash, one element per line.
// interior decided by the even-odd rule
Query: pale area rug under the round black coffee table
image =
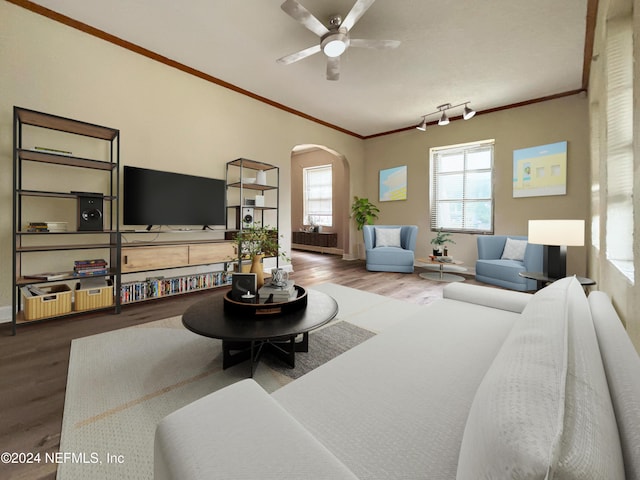
<path fill-rule="evenodd" d="M 339 313 L 312 332 L 296 368 L 277 359 L 258 364 L 268 392 L 317 368 L 425 308 L 359 290 L 322 284 Z M 153 437 L 169 413 L 244 379 L 249 365 L 222 370 L 222 344 L 182 327 L 180 317 L 74 340 L 71 345 L 59 480 L 152 479 Z"/>

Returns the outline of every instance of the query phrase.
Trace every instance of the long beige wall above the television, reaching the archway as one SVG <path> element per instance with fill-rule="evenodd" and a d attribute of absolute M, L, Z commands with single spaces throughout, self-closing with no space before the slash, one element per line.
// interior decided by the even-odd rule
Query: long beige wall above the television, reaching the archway
<path fill-rule="evenodd" d="M 0 317 L 10 316 L 12 108 L 119 128 L 121 163 L 224 178 L 246 157 L 280 167 L 280 225 L 289 250 L 291 151 L 340 152 L 352 171 L 363 141 L 167 67 L 0 1 Z M 50 177 L 48 177 L 50 178 Z M 48 180 L 44 178 L 43 181 Z M 359 194 L 362 175 L 350 188 Z M 75 206 L 74 206 L 75 208 Z"/>

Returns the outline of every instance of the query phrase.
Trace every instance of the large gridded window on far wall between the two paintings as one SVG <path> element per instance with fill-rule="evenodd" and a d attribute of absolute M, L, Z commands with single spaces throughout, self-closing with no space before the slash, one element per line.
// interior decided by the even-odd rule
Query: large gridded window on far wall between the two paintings
<path fill-rule="evenodd" d="M 493 233 L 493 144 L 431 149 L 432 230 Z"/>

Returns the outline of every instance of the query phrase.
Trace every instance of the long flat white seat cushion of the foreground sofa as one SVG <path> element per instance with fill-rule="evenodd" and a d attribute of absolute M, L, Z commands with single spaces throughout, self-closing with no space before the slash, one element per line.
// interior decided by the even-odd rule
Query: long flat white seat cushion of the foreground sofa
<path fill-rule="evenodd" d="M 358 478 L 452 479 L 475 391 L 519 317 L 438 300 L 273 397 Z"/>

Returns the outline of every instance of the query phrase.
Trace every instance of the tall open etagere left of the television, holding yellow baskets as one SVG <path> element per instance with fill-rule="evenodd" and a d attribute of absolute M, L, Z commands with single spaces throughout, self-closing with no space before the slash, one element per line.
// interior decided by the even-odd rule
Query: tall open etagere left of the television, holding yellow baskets
<path fill-rule="evenodd" d="M 79 120 L 73 120 L 70 118 L 64 118 L 57 115 L 51 115 L 48 113 L 37 112 L 21 107 L 14 107 L 14 148 L 13 148 L 13 160 L 14 160 L 14 175 L 13 175 L 13 306 L 12 306 L 12 332 L 16 334 L 16 326 L 23 322 L 32 322 L 39 320 L 46 320 L 52 317 L 73 315 L 80 313 L 80 311 L 73 310 L 72 307 L 65 306 L 61 309 L 56 309 L 55 304 L 57 302 L 67 302 L 66 295 L 71 298 L 71 287 L 73 283 L 77 282 L 81 277 L 74 276 L 72 271 L 60 268 L 55 280 L 46 280 L 43 278 L 34 278 L 33 275 L 38 274 L 35 271 L 28 271 L 33 269 L 33 265 L 27 266 L 27 257 L 31 254 L 47 253 L 47 252 L 64 252 L 64 251 L 83 251 L 83 250 L 98 250 L 101 251 L 103 256 L 109 262 L 109 267 L 104 274 L 96 275 L 96 277 L 106 277 L 110 283 L 110 290 L 113 289 L 114 283 L 116 285 L 116 291 L 119 288 L 119 275 L 120 270 L 120 236 L 119 236 L 119 164 L 120 164 L 120 131 L 115 128 L 105 127 L 101 125 L 95 125 Z M 46 131 L 46 133 L 44 133 Z M 74 156 L 70 153 L 62 153 L 59 150 L 47 149 L 46 147 L 30 147 L 27 137 L 37 139 L 37 141 L 47 142 L 48 139 L 58 136 L 56 143 L 69 142 L 69 148 L 75 148 L 74 144 L 76 139 L 83 137 L 80 142 L 106 142 L 106 159 L 92 159 L 85 158 L 83 156 Z M 101 143 L 101 145 L 104 145 Z M 30 176 L 33 176 L 34 170 L 29 172 L 25 166 L 27 164 L 48 164 L 53 168 L 67 168 L 84 169 L 88 171 L 94 171 L 95 174 L 107 175 L 107 178 L 102 178 L 99 182 L 104 185 L 103 191 L 92 195 L 98 195 L 101 199 L 102 210 L 99 212 L 102 218 L 101 229 L 93 229 L 91 231 L 81 230 L 68 230 L 68 231 L 28 231 L 25 227 L 25 223 L 32 218 L 25 218 L 25 202 L 29 198 L 57 198 L 62 201 L 67 201 L 66 206 L 63 208 L 66 212 L 70 210 L 77 210 L 76 202 L 78 198 L 82 196 L 83 182 L 79 182 L 77 185 L 78 191 L 59 191 L 56 190 L 58 182 L 52 180 L 49 185 L 54 188 L 47 189 L 34 189 L 26 188 L 25 183 L 28 183 Z M 60 174 L 64 174 L 64 171 L 59 171 Z M 55 177 L 54 177 L 55 178 Z M 54 183 L 55 182 L 55 183 Z M 106 208 L 105 208 L 106 207 Z M 108 215 L 103 214 L 108 210 Z M 44 220 L 44 219 L 42 219 Z M 100 237 L 102 240 L 96 240 L 96 237 Z M 73 238 L 74 241 L 67 242 L 68 239 Z M 60 243 L 60 239 L 62 242 Z M 85 240 L 86 239 L 86 240 Z M 27 241 L 28 240 L 28 241 Z M 104 254 L 106 252 L 106 255 Z M 55 264 L 55 258 L 53 258 Z M 84 278 L 84 277 L 82 277 Z M 66 283 L 65 283 L 66 282 Z M 71 287 L 67 284 L 72 283 Z M 53 283 L 63 283 L 61 286 L 51 285 Z M 42 298 L 30 297 L 23 298 L 23 287 L 26 285 L 35 285 L 44 291 L 50 290 L 50 295 L 43 296 Z M 54 288 L 60 287 L 60 288 Z M 65 287 L 65 288 L 62 288 Z M 67 291 L 68 290 L 68 291 Z M 86 292 L 80 292 L 81 296 Z M 78 293 L 76 293 L 78 295 Z M 61 297 L 61 298 L 58 298 Z M 62 297 L 65 297 L 64 299 Z M 102 296 L 104 297 L 104 295 Z M 84 297 L 82 297 L 84 299 Z M 119 311 L 120 302 L 118 298 L 111 295 L 108 298 L 112 301 L 103 302 L 96 309 L 114 309 Z M 49 302 L 49 303 L 47 303 Z M 36 312 L 37 314 L 31 315 L 33 318 L 27 318 L 25 307 L 28 306 L 33 310 L 34 305 L 38 304 L 42 307 L 45 313 Z M 70 301 L 68 302 L 71 305 Z M 91 303 L 91 302 L 89 302 Z M 54 305 L 54 308 L 50 308 Z M 86 311 L 83 305 L 83 312 Z M 47 314 L 51 310 L 53 314 Z"/>

